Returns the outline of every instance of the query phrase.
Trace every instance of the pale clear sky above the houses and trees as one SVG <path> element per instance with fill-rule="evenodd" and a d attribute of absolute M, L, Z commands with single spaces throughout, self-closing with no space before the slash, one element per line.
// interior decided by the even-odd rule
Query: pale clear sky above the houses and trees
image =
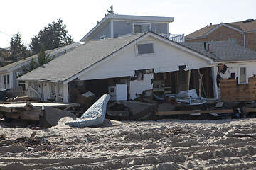
<path fill-rule="evenodd" d="M 21 34 L 24 44 L 48 23 L 62 18 L 68 34 L 79 42 L 113 6 L 114 13 L 174 17 L 169 33 L 188 35 L 210 23 L 256 19 L 255 0 L 0 0 L 0 47 Z"/>

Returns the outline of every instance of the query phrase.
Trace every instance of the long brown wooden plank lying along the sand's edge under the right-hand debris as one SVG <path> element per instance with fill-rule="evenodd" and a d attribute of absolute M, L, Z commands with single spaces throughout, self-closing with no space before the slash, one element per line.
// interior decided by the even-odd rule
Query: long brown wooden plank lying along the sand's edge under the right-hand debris
<path fill-rule="evenodd" d="M 156 115 L 186 115 L 191 113 L 233 113 L 233 109 L 215 109 L 215 110 L 191 110 L 191 111 L 158 111 Z"/>

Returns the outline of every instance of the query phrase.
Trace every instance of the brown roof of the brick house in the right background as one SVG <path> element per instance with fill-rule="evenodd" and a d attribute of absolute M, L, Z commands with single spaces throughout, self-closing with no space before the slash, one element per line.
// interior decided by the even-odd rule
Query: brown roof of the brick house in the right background
<path fill-rule="evenodd" d="M 239 21 L 239 22 L 233 22 L 233 23 L 220 23 L 215 25 L 210 24 L 209 26 L 203 27 L 191 34 L 186 35 L 185 38 L 186 39 L 203 38 L 208 33 L 213 32 L 215 29 L 219 28 L 220 26 L 227 26 L 241 33 L 256 32 L 256 20 L 249 20 L 249 21 Z"/>

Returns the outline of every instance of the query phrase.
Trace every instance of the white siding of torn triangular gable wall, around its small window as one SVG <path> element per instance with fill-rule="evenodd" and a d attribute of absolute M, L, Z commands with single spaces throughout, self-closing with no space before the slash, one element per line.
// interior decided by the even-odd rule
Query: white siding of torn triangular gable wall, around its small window
<path fill-rule="evenodd" d="M 189 65 L 189 69 L 207 67 L 208 61 L 166 42 L 150 37 L 145 38 L 143 42 L 154 43 L 154 54 L 139 56 L 134 45 L 78 78 L 88 80 L 134 76 L 134 70 L 152 68 L 154 72 L 173 72 L 178 70 L 179 65 L 185 64 Z"/>

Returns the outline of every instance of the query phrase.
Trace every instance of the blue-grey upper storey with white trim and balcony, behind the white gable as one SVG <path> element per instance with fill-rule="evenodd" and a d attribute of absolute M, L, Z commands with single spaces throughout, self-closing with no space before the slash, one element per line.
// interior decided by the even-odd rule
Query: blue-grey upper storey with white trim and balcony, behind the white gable
<path fill-rule="evenodd" d="M 92 28 L 80 41 L 117 38 L 124 35 L 152 31 L 175 42 L 184 42 L 184 35 L 169 34 L 169 23 L 174 17 L 130 16 L 110 13 Z"/>

